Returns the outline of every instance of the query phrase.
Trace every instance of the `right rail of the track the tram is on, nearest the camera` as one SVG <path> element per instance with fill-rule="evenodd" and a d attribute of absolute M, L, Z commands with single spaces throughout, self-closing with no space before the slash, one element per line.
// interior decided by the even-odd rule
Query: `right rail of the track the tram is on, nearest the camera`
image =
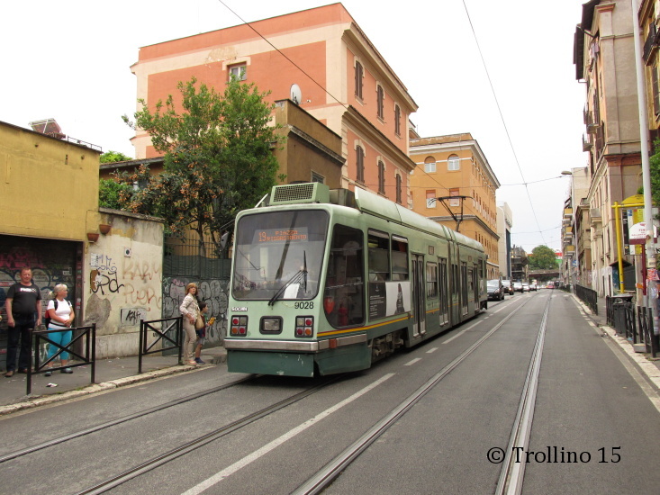
<path fill-rule="evenodd" d="M 344 376 L 343 374 L 333 375 L 332 377 L 330 377 L 330 379 L 326 380 L 323 383 L 320 383 L 319 385 L 316 385 L 315 387 L 312 387 L 311 389 L 308 389 L 303 392 L 298 392 L 287 399 L 278 401 L 275 404 L 271 404 L 270 406 L 262 410 L 253 412 L 252 414 L 249 414 L 248 416 L 242 419 L 237 419 L 236 421 L 232 421 L 228 425 L 225 425 L 221 428 L 217 428 L 203 435 L 202 437 L 197 437 L 194 440 L 191 440 L 190 442 L 186 442 L 182 446 L 177 446 L 172 450 L 166 452 L 165 454 L 153 457 L 152 459 L 149 459 L 149 461 L 134 466 L 124 471 L 123 473 L 117 474 L 112 478 L 105 480 L 104 482 L 96 483 L 94 486 L 89 487 L 84 491 L 79 491 L 77 492 L 76 495 L 96 495 L 98 493 L 104 493 L 105 491 L 111 490 L 114 487 L 121 485 L 122 483 L 128 482 L 133 478 L 137 478 L 142 473 L 148 473 L 149 471 L 157 468 L 162 464 L 167 464 L 172 460 L 180 458 L 181 455 L 185 455 L 201 446 L 210 444 L 211 442 L 217 440 L 218 438 L 224 437 L 225 435 L 228 435 L 233 431 L 243 428 L 249 425 L 250 423 L 254 423 L 258 419 L 262 419 L 268 416 L 269 414 L 276 412 L 277 410 L 284 409 L 285 407 L 290 406 L 297 401 L 301 401 L 305 397 L 321 391 L 325 387 L 329 386 L 331 383 L 335 383 L 339 381 L 339 379 L 342 378 L 343 376 Z"/>

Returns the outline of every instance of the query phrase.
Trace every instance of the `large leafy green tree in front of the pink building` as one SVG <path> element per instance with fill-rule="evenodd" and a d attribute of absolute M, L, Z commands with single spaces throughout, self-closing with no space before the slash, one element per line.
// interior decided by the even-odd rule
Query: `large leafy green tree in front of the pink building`
<path fill-rule="evenodd" d="M 122 193 L 122 202 L 129 211 L 165 219 L 177 237 L 194 230 L 205 256 L 206 239 L 221 252 L 222 234 L 233 229 L 236 214 L 253 207 L 276 184 L 278 165 L 271 148 L 279 138 L 276 127 L 268 125 L 274 105 L 254 84 L 232 79 L 221 95 L 196 83 L 194 77 L 178 83 L 179 104 L 170 94 L 151 111 L 139 100 L 142 110 L 135 113 L 134 124 L 124 117 L 131 127 L 149 133 L 153 147 L 164 154 L 164 170 L 150 176 L 142 166 L 123 175 L 124 183 L 145 185 Z"/>

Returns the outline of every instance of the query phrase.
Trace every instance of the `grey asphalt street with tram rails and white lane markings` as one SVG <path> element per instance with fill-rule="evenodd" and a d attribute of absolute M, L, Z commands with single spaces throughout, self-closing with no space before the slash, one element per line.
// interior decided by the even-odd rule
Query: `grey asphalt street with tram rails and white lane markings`
<path fill-rule="evenodd" d="M 542 290 L 364 373 L 219 365 L 2 418 L 2 491 L 285 494 L 341 460 L 326 493 L 655 494 L 660 414 L 646 393 L 658 403 L 571 295 Z"/>

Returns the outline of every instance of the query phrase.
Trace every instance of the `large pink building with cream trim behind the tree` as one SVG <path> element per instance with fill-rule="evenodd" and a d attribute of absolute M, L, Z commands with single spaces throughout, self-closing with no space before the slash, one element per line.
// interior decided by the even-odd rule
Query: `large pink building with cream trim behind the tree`
<path fill-rule="evenodd" d="M 292 99 L 341 137 L 342 187 L 411 202 L 408 118 L 417 104 L 342 4 L 143 47 L 131 70 L 151 108 L 192 76 L 222 93 L 234 75 L 272 102 Z M 145 133 L 132 142 L 137 158 L 157 156 Z"/>

